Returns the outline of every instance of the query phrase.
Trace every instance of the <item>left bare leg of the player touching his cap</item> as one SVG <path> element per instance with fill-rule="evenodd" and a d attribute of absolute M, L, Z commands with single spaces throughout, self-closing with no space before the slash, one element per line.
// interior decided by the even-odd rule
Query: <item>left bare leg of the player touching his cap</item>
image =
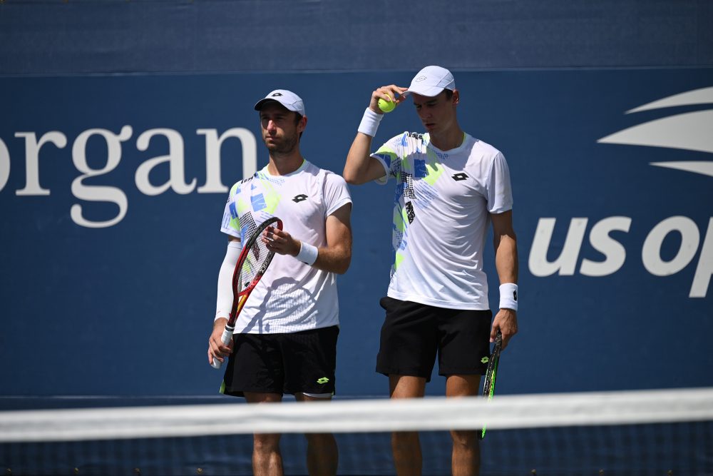
<path fill-rule="evenodd" d="M 389 375 L 391 398 L 423 397 L 426 379 L 407 375 Z M 394 432 L 391 434 L 391 451 L 398 476 L 421 476 L 421 442 L 418 432 Z"/>

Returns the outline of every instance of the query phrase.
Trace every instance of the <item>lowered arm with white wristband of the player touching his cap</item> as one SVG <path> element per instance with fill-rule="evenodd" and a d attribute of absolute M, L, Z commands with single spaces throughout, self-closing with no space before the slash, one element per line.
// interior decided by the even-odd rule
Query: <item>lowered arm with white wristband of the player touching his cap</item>
<path fill-rule="evenodd" d="M 491 213 L 493 221 L 493 246 L 495 247 L 495 265 L 500 284 L 518 283 L 518 243 L 513 230 L 513 212 Z M 507 297 L 510 300 L 511 296 Z M 501 296 L 501 303 L 503 296 Z M 493 319 L 491 342 L 503 333 L 503 349 L 508 341 L 518 332 L 518 313 L 516 310 L 501 306 Z"/>

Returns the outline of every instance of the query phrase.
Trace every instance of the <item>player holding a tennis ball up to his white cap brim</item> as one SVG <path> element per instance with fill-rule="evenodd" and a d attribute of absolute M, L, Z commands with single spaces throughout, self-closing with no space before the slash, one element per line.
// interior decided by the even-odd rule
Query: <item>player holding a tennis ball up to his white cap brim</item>
<path fill-rule="evenodd" d="M 379 99 L 411 96 L 426 133 L 404 132 L 376 152 L 371 139 L 383 113 Z M 489 342 L 503 348 L 518 330 L 518 255 L 512 223 L 510 173 L 503 154 L 463 132 L 453 75 L 426 66 L 409 88 L 382 86 L 371 93 L 344 166 L 348 183 L 396 179 L 394 264 L 381 307 L 386 310 L 376 371 L 389 376 L 392 398 L 422 397 L 436 355 L 446 396 L 477 395 Z M 493 223 L 500 309 L 491 323 L 483 248 Z M 453 475 L 477 475 L 476 431 L 451 431 Z M 391 437 L 398 475 L 421 474 L 416 432 Z"/>

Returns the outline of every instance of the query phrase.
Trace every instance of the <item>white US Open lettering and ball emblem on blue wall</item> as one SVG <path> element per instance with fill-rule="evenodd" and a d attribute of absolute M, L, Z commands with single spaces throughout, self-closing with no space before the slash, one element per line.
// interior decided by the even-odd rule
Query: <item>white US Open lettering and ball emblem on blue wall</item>
<path fill-rule="evenodd" d="M 625 113 L 652 111 L 675 106 L 699 106 L 713 104 L 713 87 L 686 91 L 668 96 Z M 677 113 L 654 121 L 623 129 L 597 140 L 597 143 L 621 146 L 652 146 L 713 153 L 713 109 Z M 651 162 L 655 167 L 699 173 L 713 177 L 713 160 Z M 713 185 L 713 184 L 712 184 Z M 558 258 L 548 260 L 548 249 L 557 218 L 540 218 L 530 248 L 528 266 L 530 273 L 538 277 L 575 275 L 581 246 L 588 228 L 588 218 L 571 218 L 565 243 Z M 589 232 L 593 248 L 605 256 L 603 261 L 584 258 L 580 264 L 581 275 L 601 277 L 616 273 L 627 257 L 625 246 L 612 238 L 613 231 L 628 233 L 632 218 L 612 216 L 595 223 Z M 679 234 L 681 243 L 673 258 L 661 256 L 664 240 L 670 234 Z M 701 238 L 703 234 L 703 238 Z M 668 276 L 683 270 L 700 250 L 698 263 L 689 288 L 689 298 L 705 298 L 713 274 L 713 217 L 709 218 L 707 230 L 699 230 L 692 218 L 671 216 L 664 218 L 647 234 L 640 249 L 629 250 L 640 255 L 648 273 Z M 677 291 L 674 291 L 677 292 Z"/>

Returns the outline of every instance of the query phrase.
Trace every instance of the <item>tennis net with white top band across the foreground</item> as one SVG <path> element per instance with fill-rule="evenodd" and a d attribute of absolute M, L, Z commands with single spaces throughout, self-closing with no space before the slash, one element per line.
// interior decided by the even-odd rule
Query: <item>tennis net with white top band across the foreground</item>
<path fill-rule="evenodd" d="M 231 402 L 233 400 L 230 400 Z M 394 474 L 390 432 L 421 434 L 423 474 L 450 474 L 448 430 L 480 429 L 481 475 L 713 475 L 713 388 L 329 403 L 0 412 L 6 475 L 250 475 L 252 432 L 334 432 L 341 475 Z"/>

